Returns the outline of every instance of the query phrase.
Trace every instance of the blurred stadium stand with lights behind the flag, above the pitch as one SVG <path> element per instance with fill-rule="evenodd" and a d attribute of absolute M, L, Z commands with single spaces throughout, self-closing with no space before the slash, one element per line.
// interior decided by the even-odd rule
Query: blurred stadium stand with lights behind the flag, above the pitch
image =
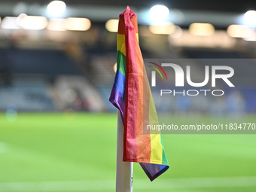
<path fill-rule="evenodd" d="M 50 28 L 53 18 L 46 14 L 47 4 L 36 2 L 30 5 L 29 0 L 11 0 L 4 1 L 0 7 L 0 111 L 6 111 L 10 106 L 18 111 L 116 111 L 108 97 L 114 81 L 117 35 L 107 30 L 105 23 L 117 19 L 127 2 L 110 1 L 108 5 L 105 1 L 67 2 L 66 15 L 58 18 L 65 22 L 67 17 L 87 17 L 90 19 L 88 29 L 82 31 L 63 29 L 63 26 L 56 29 L 54 27 L 59 25 L 56 23 Z M 235 70 L 232 81 L 236 91 L 219 84 L 227 93 L 221 98 L 177 96 L 157 99 L 159 90 L 153 89 L 157 110 L 209 114 L 256 112 L 256 27 L 241 29 L 244 31 L 238 37 L 227 32 L 230 25 L 242 24 L 239 18 L 252 8 L 254 2 L 229 6 L 230 2 L 224 1 L 221 7 L 215 2 L 204 1 L 197 5 L 187 1 L 163 2 L 172 8 L 169 22 L 175 24 L 174 32 L 165 35 L 154 34 L 149 28 L 149 6 L 153 2 L 130 2 L 138 14 L 139 44 L 144 59 L 187 59 L 194 72 L 194 81 L 199 82 L 204 66 L 215 65 L 209 63 L 209 59 L 232 59 Z M 48 26 L 26 29 L 12 23 L 13 26 L 8 28 L 5 18 L 21 20 L 27 17 L 24 13 L 43 16 Z M 210 23 L 212 34 L 191 32 L 190 24 L 197 22 Z M 251 36 L 248 37 L 246 32 Z M 185 69 L 186 65 L 181 64 L 181 67 Z M 170 73 L 168 76 L 174 82 L 174 75 Z M 173 83 L 169 87 L 169 82 L 161 81 L 160 77 L 157 82 L 158 89 L 174 88 Z"/>

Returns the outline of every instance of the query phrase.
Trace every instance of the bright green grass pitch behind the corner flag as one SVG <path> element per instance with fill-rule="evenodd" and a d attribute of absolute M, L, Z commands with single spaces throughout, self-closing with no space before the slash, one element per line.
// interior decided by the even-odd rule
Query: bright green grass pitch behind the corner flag
<path fill-rule="evenodd" d="M 114 191 L 116 122 L 116 114 L 21 113 L 13 122 L 0 114 L 0 192 Z M 134 163 L 134 192 L 256 191 L 255 134 L 166 134 L 163 142 L 169 170 L 151 182 Z"/>

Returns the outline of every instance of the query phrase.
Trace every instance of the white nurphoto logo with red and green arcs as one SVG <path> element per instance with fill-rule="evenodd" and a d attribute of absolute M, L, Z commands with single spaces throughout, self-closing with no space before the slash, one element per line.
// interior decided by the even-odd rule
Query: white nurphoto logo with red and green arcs
<path fill-rule="evenodd" d="M 168 80 L 166 75 L 166 70 L 172 70 L 175 72 L 175 87 L 184 87 L 184 77 L 186 77 L 187 84 L 191 87 L 204 87 L 206 84 L 209 83 L 209 80 L 211 79 L 211 87 L 216 87 L 216 79 L 221 79 L 221 81 L 224 81 L 225 84 L 227 84 L 228 87 L 235 87 L 234 84 L 230 81 L 229 78 L 233 77 L 234 70 L 230 66 L 205 66 L 204 69 L 204 80 L 201 82 L 194 82 L 191 80 L 191 70 L 190 66 L 186 66 L 185 72 L 179 66 L 175 63 L 161 63 L 161 66 L 155 62 L 150 62 L 154 66 L 150 66 L 153 71 L 151 71 L 151 87 L 156 87 L 157 80 L 156 80 L 156 72 L 160 75 L 160 77 L 163 80 L 163 75 L 165 75 L 166 80 Z M 163 69 L 165 67 L 166 70 Z M 210 72 L 211 69 L 211 72 Z M 161 72 L 163 72 L 163 75 Z M 222 73 L 219 73 L 219 72 Z M 173 96 L 177 94 L 181 94 L 183 96 L 197 96 L 199 94 L 203 94 L 204 96 L 207 96 L 207 94 L 212 94 L 212 96 L 223 96 L 224 90 L 209 90 L 209 89 L 200 89 L 200 90 L 160 90 L 160 96 L 163 96 L 163 94 L 172 94 Z"/>

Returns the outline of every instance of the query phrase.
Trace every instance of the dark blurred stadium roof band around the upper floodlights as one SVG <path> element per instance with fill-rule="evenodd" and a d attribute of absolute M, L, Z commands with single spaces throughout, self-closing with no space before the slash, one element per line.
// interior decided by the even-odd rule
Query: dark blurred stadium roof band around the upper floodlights
<path fill-rule="evenodd" d="M 227 29 L 231 24 L 244 25 L 243 15 L 246 11 L 256 10 L 256 4 L 251 0 L 234 1 L 156 1 L 156 0 L 62 0 L 67 5 L 67 11 L 62 17 L 86 17 L 94 23 L 105 23 L 110 19 L 117 19 L 126 5 L 136 11 L 139 24 L 149 25 L 149 10 L 154 5 L 166 5 L 169 8 L 169 22 L 181 27 L 188 27 L 190 23 L 212 23 L 218 29 Z M 27 15 L 41 15 L 53 18 L 47 14 L 50 0 L 2 0 L 0 17 L 14 16 L 24 13 Z"/>

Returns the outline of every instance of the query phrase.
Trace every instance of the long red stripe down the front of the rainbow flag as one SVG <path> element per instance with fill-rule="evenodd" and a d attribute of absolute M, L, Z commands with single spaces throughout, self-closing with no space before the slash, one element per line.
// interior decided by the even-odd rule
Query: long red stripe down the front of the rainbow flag
<path fill-rule="evenodd" d="M 137 158 L 136 120 L 139 79 L 136 75 L 136 50 L 133 49 L 133 44 L 136 39 L 133 37 L 133 25 L 130 23 L 129 15 L 134 13 L 131 12 L 133 11 L 127 8 L 126 11 L 120 15 L 124 19 L 126 43 L 126 112 L 124 117 L 123 160 Z"/>

